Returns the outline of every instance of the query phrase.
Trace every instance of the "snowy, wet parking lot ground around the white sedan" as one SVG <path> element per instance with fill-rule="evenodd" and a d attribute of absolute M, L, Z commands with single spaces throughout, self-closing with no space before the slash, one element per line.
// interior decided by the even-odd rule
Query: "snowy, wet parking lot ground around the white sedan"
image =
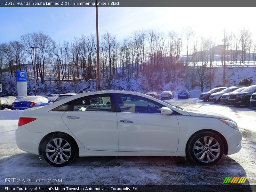
<path fill-rule="evenodd" d="M 241 151 L 223 156 L 213 166 L 196 165 L 180 157 L 130 156 L 79 157 L 70 165 L 57 168 L 41 156 L 21 151 L 15 143 L 17 116 L 0 116 L 0 185 L 10 184 L 5 182 L 6 177 L 40 179 L 33 185 L 221 185 L 226 177 L 248 177 L 244 185 L 256 185 L 255 108 L 235 108 L 197 98 L 166 101 L 234 119 L 243 133 Z M 61 182 L 48 182 L 48 179 L 61 179 Z"/>

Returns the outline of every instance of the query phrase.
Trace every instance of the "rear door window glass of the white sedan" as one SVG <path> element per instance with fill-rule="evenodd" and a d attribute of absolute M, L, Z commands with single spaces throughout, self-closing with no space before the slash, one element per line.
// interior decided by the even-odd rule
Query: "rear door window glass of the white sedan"
<path fill-rule="evenodd" d="M 88 96 L 72 102 L 68 111 L 112 111 L 110 96 Z"/>

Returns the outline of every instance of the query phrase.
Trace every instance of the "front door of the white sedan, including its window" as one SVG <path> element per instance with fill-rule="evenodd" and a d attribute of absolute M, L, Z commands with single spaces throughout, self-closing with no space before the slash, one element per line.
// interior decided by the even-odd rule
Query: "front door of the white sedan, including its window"
<path fill-rule="evenodd" d="M 162 104 L 144 97 L 116 97 L 119 151 L 176 152 L 179 124 L 175 115 L 162 115 Z"/>

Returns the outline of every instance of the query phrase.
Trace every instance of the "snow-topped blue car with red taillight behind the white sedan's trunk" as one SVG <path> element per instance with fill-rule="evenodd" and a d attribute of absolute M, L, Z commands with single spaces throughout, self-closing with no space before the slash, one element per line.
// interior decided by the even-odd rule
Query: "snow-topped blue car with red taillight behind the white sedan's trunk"
<path fill-rule="evenodd" d="M 14 103 L 12 103 L 12 109 L 24 110 L 27 108 L 40 107 L 44 105 L 49 105 L 47 98 L 42 96 L 28 96 L 14 101 Z"/>

